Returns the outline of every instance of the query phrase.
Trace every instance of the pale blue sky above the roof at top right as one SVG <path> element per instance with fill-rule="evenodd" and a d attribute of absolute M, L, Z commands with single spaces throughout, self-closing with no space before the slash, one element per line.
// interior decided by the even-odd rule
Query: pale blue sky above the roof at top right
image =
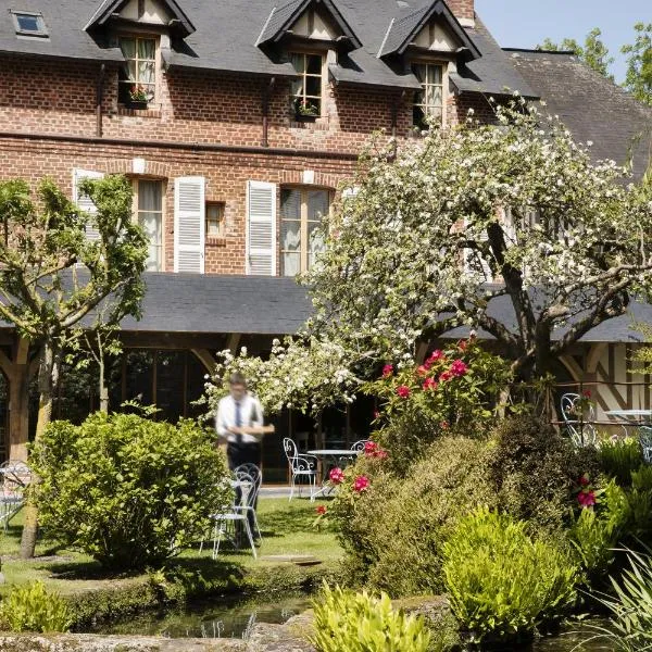
<path fill-rule="evenodd" d="M 475 8 L 502 47 L 535 48 L 547 36 L 584 43 L 586 35 L 600 27 L 616 60 L 611 71 L 617 82 L 626 71 L 620 46 L 634 42 L 635 23 L 652 23 L 652 0 L 475 0 Z"/>

